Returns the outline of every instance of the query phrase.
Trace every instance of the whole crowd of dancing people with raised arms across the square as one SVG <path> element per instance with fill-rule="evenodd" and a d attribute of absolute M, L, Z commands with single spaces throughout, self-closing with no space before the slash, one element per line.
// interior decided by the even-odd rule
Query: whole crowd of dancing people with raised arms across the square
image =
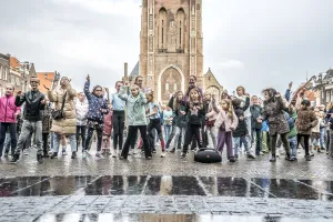
<path fill-rule="evenodd" d="M 186 91 L 174 93 L 168 104 L 154 99 L 140 75 L 133 82 L 117 81 L 111 97 L 101 85 L 90 91 L 89 75 L 79 93 L 67 77 L 54 80 L 52 89 L 43 85 L 47 94 L 38 90 L 38 77 L 30 79 L 30 87 L 28 92 L 14 92 L 9 83 L 0 98 L 0 159 L 11 155 L 10 163 L 17 163 L 22 151 L 28 154 L 30 147 L 36 147 L 40 163 L 67 155 L 67 143 L 71 159 L 79 150 L 85 159 L 94 140 L 97 159 L 110 154 L 127 160 L 140 152 L 151 160 L 157 147 L 161 158 L 179 151 L 184 159 L 190 149 L 212 148 L 222 155 L 225 148 L 230 162 L 243 153 L 249 160 L 271 153 L 275 162 L 282 145 L 286 161 L 296 161 L 302 148 L 306 161 L 315 152 L 333 159 L 333 103 L 312 105 L 306 83 L 293 92 L 290 83 L 284 95 L 264 89 L 261 99 L 238 87 L 235 94 L 223 91 L 215 98 L 190 75 Z"/>

